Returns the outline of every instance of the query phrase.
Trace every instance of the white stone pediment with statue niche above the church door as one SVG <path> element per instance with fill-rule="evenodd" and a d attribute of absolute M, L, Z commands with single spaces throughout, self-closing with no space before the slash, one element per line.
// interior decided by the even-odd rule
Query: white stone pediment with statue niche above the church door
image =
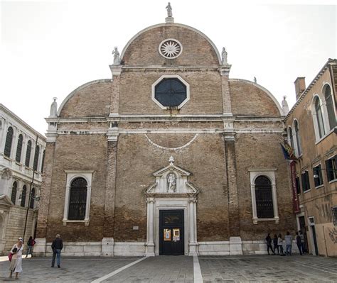
<path fill-rule="evenodd" d="M 153 175 L 156 181 L 146 189 L 147 195 L 188 194 L 196 196 L 199 192 L 193 184 L 188 182 L 191 173 L 174 165 L 172 156 L 169 159 L 169 165 L 154 172 Z"/>

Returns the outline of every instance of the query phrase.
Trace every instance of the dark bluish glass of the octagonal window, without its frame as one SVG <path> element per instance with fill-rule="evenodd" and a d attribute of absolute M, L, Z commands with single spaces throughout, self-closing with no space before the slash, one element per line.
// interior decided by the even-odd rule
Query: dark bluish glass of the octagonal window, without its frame
<path fill-rule="evenodd" d="M 154 89 L 154 97 L 161 105 L 179 106 L 186 99 L 186 85 L 179 79 L 162 79 Z"/>

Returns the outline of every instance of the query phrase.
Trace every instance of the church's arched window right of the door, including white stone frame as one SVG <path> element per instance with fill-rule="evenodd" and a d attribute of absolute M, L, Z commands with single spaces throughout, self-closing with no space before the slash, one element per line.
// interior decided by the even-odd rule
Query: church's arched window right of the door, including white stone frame
<path fill-rule="evenodd" d="M 279 223 L 275 170 L 249 170 L 252 193 L 252 220 Z"/>

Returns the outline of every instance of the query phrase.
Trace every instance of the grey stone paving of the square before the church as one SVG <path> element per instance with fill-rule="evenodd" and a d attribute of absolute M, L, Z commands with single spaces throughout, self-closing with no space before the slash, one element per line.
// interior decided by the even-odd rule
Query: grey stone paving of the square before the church
<path fill-rule="evenodd" d="M 49 257 L 23 259 L 19 280 L 9 279 L 9 261 L 0 259 L 0 282 L 92 282 L 141 257 Z M 203 282 L 337 282 L 337 259 L 311 255 L 200 256 Z M 193 257 L 148 257 L 102 282 L 193 282 Z"/>

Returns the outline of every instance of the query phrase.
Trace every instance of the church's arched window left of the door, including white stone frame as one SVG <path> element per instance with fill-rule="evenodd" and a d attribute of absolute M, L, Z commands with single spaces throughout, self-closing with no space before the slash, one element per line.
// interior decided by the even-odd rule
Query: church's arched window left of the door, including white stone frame
<path fill-rule="evenodd" d="M 93 170 L 67 170 L 63 225 L 84 222 L 89 225 L 90 197 Z"/>

